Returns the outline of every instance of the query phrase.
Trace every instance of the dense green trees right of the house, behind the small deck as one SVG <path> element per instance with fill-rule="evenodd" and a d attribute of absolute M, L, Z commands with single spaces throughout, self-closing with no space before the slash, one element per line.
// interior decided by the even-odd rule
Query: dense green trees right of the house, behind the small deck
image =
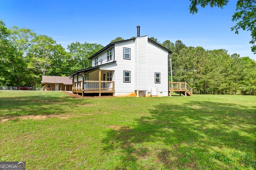
<path fill-rule="evenodd" d="M 249 57 L 225 49 L 186 47 L 180 40 L 160 44 L 173 51 L 173 82 L 188 82 L 194 94 L 256 95 L 256 61 Z"/>

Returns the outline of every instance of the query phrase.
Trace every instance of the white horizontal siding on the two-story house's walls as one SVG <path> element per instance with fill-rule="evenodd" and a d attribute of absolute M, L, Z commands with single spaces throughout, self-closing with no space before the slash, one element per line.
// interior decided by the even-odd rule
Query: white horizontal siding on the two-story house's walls
<path fill-rule="evenodd" d="M 107 61 L 109 58 L 107 51 L 110 49 L 112 59 Z M 124 49 L 130 49 L 130 59 L 124 59 L 124 54 L 128 52 L 125 52 Z M 148 36 L 115 43 L 97 57 L 98 61 L 102 61 L 100 64 L 116 61 L 116 63 L 100 65 L 99 68 L 102 70 L 102 75 L 106 74 L 106 80 L 108 79 L 107 72 L 112 72 L 115 96 L 119 94 L 128 96 L 135 94 L 136 90 L 144 93 L 146 90 L 151 92 L 153 86 L 156 86 L 158 96 L 168 96 L 168 51 L 148 41 Z M 94 59 L 92 59 L 92 66 L 95 66 Z M 129 76 L 124 77 L 124 71 L 130 72 L 130 83 L 124 82 L 125 77 L 129 79 Z M 156 76 L 155 73 L 157 73 Z M 157 75 L 160 77 L 158 78 Z M 94 76 L 96 80 L 98 78 L 97 72 L 95 75 L 91 73 L 90 78 L 88 76 L 87 78 L 94 80 Z M 158 83 L 158 79 L 160 83 Z"/>

